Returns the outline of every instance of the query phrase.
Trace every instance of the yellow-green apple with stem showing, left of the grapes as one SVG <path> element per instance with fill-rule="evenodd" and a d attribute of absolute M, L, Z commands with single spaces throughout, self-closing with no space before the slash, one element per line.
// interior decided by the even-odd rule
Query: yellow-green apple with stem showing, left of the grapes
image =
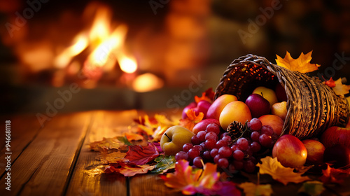
<path fill-rule="evenodd" d="M 183 144 L 191 142 L 194 135 L 193 132 L 179 125 L 169 127 L 160 139 L 160 147 L 165 155 L 176 155 L 182 151 Z"/>

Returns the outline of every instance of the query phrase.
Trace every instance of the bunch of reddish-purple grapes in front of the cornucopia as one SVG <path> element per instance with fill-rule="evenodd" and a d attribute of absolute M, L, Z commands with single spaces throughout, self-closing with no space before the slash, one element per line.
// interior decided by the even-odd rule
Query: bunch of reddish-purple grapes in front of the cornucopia
<path fill-rule="evenodd" d="M 258 118 L 247 123 L 248 130 L 242 137 L 232 140 L 228 132 L 215 123 L 207 125 L 193 136 L 191 143 L 183 145 L 183 151 L 175 155 L 176 160 L 188 160 L 202 168 L 205 162 L 214 162 L 218 168 L 229 172 L 244 170 L 252 173 L 260 155 L 272 148 L 278 136 L 269 125 L 262 125 Z"/>

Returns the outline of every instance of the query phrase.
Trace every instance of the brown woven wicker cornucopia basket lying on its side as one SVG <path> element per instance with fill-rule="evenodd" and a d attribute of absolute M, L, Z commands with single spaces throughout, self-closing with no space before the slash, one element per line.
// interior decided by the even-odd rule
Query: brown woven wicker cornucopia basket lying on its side
<path fill-rule="evenodd" d="M 316 77 L 272 64 L 265 57 L 246 55 L 235 59 L 216 87 L 215 99 L 234 94 L 244 102 L 255 87 L 274 86 L 286 90 L 287 116 L 282 134 L 299 139 L 317 137 L 330 126 L 344 126 L 349 120 L 349 103 Z"/>

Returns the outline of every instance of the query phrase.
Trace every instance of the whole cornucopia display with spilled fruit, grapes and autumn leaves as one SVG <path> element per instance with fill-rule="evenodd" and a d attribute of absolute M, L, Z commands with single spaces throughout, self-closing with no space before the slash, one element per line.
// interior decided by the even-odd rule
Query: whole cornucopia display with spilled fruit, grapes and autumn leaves
<path fill-rule="evenodd" d="M 137 120 L 137 134 L 113 141 L 120 159 L 113 154 L 104 171 L 163 174 L 166 186 L 185 195 L 271 195 L 271 185 L 259 182 L 263 174 L 283 185 L 302 183 L 299 191 L 309 195 L 343 183 L 350 176 L 350 86 L 344 78 L 309 76 L 320 66 L 310 61 L 311 52 L 277 55 L 276 64 L 255 55 L 235 59 L 215 92 L 195 96 L 179 122 Z M 138 140 L 144 144 L 135 147 Z M 257 174 L 258 183 L 234 183 L 237 174 Z"/>

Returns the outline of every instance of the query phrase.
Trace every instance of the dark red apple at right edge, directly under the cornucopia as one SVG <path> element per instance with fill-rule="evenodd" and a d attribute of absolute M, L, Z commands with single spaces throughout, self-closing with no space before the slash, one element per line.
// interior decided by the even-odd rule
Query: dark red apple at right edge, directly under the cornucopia
<path fill-rule="evenodd" d="M 325 148 L 342 144 L 350 148 L 350 128 L 344 127 L 329 127 L 323 134 L 321 134 L 321 143 Z"/>

